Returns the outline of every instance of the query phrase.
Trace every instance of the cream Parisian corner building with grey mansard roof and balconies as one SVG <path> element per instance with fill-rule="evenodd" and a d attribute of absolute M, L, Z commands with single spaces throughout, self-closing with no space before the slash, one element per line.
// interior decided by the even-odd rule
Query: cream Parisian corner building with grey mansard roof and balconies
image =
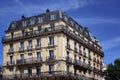
<path fill-rule="evenodd" d="M 2 39 L 3 80 L 102 80 L 99 41 L 65 12 L 10 23 Z"/>

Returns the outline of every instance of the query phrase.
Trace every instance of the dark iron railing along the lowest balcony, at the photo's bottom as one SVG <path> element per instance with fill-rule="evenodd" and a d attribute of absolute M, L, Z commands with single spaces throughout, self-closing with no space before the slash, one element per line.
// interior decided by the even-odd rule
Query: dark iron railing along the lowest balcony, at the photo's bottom
<path fill-rule="evenodd" d="M 72 78 L 76 80 L 81 80 L 81 79 L 90 80 L 89 77 L 86 77 L 80 74 L 74 75 L 74 73 L 67 72 L 67 71 L 53 71 L 53 74 L 50 74 L 49 71 L 47 71 L 47 72 L 40 72 L 39 75 L 37 75 L 37 73 L 32 73 L 31 75 L 29 73 L 3 75 L 3 79 L 7 79 L 7 80 L 10 80 L 10 79 L 19 80 L 19 79 L 31 79 L 31 78 L 36 79 L 36 78 L 46 78 L 46 77 L 66 77 L 66 78 Z"/>

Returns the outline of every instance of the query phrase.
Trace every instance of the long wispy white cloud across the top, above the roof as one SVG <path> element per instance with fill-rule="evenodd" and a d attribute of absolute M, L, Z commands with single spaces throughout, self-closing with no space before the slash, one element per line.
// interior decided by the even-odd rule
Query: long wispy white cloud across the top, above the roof
<path fill-rule="evenodd" d="M 94 5 L 96 0 L 60 0 L 54 3 L 46 3 L 46 4 L 35 4 L 35 3 L 24 3 L 20 0 L 13 0 L 16 4 L 12 6 L 1 8 L 0 15 L 5 14 L 27 14 L 27 16 L 31 16 L 33 13 L 39 13 L 40 11 L 45 11 L 47 8 L 51 10 L 61 9 L 64 11 L 73 10 L 82 8 L 88 5 Z M 42 1 L 40 1 L 42 2 Z"/>

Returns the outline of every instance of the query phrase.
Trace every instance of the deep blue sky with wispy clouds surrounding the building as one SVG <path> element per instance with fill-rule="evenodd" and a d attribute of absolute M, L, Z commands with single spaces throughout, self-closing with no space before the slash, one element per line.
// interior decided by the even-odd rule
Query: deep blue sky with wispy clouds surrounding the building
<path fill-rule="evenodd" d="M 120 0 L 2 0 L 0 3 L 0 40 L 9 23 L 24 14 L 29 17 L 45 10 L 63 10 L 99 40 L 109 64 L 120 58 Z M 0 42 L 0 64 L 3 59 Z"/>

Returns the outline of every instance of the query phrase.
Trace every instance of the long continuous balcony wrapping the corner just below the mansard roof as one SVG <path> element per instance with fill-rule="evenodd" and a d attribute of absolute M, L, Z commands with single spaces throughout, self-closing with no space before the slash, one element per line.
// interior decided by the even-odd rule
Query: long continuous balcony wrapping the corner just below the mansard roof
<path fill-rule="evenodd" d="M 11 36 L 6 36 L 4 38 L 2 38 L 2 42 L 9 42 L 9 41 L 15 41 L 15 40 L 22 40 L 22 39 L 28 39 L 31 37 L 38 37 L 38 36 L 43 36 L 43 35 L 49 35 L 49 34 L 56 34 L 56 33 L 60 33 L 63 32 L 67 35 L 69 35 L 70 37 L 76 39 L 78 42 L 80 42 L 81 44 L 85 45 L 86 47 L 89 47 L 90 49 L 94 50 L 95 52 L 97 52 L 98 54 L 101 54 L 102 56 L 104 56 L 104 53 L 102 51 L 100 51 L 99 49 L 95 48 L 93 46 L 93 44 L 86 42 L 83 38 L 81 38 L 79 35 L 75 34 L 73 31 L 71 31 L 70 29 L 66 28 L 63 25 L 60 26 L 55 26 L 54 29 L 50 29 L 49 27 L 47 28 L 47 30 L 45 28 L 41 29 L 41 32 L 38 30 L 34 30 L 32 32 L 26 32 L 26 34 L 23 36 L 22 33 L 21 34 L 15 34 L 13 38 L 11 38 Z M 68 46 L 67 46 L 68 48 Z"/>

